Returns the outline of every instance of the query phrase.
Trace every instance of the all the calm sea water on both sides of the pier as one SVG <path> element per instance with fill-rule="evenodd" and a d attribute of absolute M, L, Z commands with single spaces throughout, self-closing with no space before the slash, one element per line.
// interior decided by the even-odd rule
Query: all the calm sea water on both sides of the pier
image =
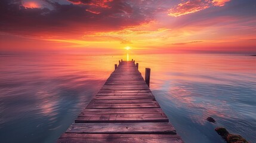
<path fill-rule="evenodd" d="M 0 55 L 1 142 L 55 142 L 127 55 Z M 256 141 L 256 57 L 129 55 L 185 142 L 224 142 L 224 126 Z M 217 122 L 209 123 L 206 117 Z"/>

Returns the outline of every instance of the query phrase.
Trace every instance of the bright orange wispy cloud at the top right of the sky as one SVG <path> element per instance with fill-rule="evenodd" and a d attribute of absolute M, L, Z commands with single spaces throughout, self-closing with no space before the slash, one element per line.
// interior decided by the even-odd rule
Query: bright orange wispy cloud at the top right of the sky
<path fill-rule="evenodd" d="M 186 15 L 190 13 L 196 13 L 201 10 L 213 6 L 223 7 L 226 2 L 231 0 L 195 0 L 182 2 L 175 7 L 168 10 L 168 15 L 172 17 L 179 17 L 181 15 Z"/>

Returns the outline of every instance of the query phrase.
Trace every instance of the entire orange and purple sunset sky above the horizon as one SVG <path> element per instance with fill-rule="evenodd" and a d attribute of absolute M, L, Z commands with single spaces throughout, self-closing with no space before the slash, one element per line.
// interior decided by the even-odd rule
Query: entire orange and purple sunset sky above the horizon
<path fill-rule="evenodd" d="M 1 0 L 0 54 L 256 52 L 255 0 Z"/>

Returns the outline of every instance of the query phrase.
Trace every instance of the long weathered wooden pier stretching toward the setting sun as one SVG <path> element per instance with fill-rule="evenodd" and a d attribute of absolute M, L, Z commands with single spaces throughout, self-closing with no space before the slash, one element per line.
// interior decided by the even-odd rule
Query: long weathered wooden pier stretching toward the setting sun
<path fill-rule="evenodd" d="M 57 142 L 183 142 L 144 82 L 138 64 L 119 63 Z"/>

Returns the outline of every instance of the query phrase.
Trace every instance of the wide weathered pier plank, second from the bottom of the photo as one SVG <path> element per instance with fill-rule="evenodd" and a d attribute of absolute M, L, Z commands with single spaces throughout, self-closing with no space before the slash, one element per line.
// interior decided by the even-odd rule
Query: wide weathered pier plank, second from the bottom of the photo
<path fill-rule="evenodd" d="M 73 123 L 66 133 L 177 134 L 170 123 Z"/>

